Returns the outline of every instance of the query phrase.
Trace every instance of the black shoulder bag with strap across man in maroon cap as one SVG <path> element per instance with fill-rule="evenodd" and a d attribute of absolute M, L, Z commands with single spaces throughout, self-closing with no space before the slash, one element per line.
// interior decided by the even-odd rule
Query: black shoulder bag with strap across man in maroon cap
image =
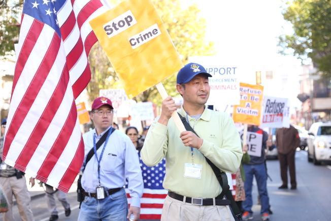
<path fill-rule="evenodd" d="M 100 140 L 98 140 L 95 144 L 96 150 L 98 150 L 101 145 L 106 141 L 106 138 L 108 136 L 108 134 L 112 134 L 115 131 L 114 128 L 110 128 L 101 138 Z M 84 162 L 84 167 L 82 169 L 82 173 L 84 173 L 85 170 L 85 166 L 87 165 L 87 163 L 91 160 L 92 156 L 94 155 L 94 150 L 93 148 L 90 149 L 90 151 L 87 153 L 86 156 L 86 161 Z M 77 180 L 77 201 L 79 202 L 79 208 L 80 205 L 82 204 L 82 202 L 84 201 L 85 195 L 84 195 L 84 190 L 82 188 L 82 183 L 81 183 L 81 179 L 82 179 L 82 174 L 79 175 L 78 180 Z"/>

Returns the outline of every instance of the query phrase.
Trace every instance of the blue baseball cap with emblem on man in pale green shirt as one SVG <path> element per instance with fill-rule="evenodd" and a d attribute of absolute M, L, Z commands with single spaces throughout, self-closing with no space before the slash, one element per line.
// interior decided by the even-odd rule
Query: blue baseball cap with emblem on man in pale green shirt
<path fill-rule="evenodd" d="M 195 75 L 205 74 L 207 77 L 213 77 L 211 74 L 207 73 L 206 69 L 197 63 L 188 63 L 177 74 L 177 84 L 187 83 Z"/>

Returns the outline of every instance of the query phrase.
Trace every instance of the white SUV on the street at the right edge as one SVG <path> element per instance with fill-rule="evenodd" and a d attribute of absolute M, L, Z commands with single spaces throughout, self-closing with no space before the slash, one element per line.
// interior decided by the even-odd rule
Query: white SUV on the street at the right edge
<path fill-rule="evenodd" d="M 315 165 L 331 162 L 331 122 L 313 123 L 308 134 L 308 161 Z"/>

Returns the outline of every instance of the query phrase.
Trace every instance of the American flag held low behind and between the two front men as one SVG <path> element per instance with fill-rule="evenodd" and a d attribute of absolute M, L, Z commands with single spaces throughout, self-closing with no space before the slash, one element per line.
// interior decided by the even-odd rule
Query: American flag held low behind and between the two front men
<path fill-rule="evenodd" d="M 161 219 L 163 202 L 168 194 L 168 191 L 162 187 L 164 175 L 166 174 L 166 160 L 163 159 L 154 167 L 148 167 L 141 160 L 140 152 L 138 154 L 144 180 L 140 219 Z M 128 204 L 130 204 L 128 190 L 125 190 L 128 197 Z"/>

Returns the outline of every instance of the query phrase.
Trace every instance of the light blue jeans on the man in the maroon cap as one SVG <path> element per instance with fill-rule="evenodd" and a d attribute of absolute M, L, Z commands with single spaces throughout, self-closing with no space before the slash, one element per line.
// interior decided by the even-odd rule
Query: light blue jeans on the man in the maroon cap
<path fill-rule="evenodd" d="M 127 199 L 125 190 L 122 188 L 119 192 L 102 200 L 85 197 L 79 211 L 78 220 L 126 221 L 127 211 Z"/>

